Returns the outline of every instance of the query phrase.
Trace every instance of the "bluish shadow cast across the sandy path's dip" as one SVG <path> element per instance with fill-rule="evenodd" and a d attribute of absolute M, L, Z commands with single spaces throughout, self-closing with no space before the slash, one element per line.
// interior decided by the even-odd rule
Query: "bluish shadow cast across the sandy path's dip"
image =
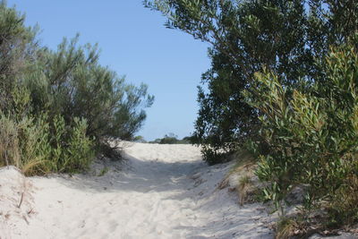
<path fill-rule="evenodd" d="M 206 166 L 201 160 L 173 163 L 159 160 L 141 160 L 123 154 L 124 160 L 111 162 L 109 171 L 98 175 L 50 175 L 60 184 L 89 192 L 166 192 L 183 190 L 192 183 L 188 177 Z"/>

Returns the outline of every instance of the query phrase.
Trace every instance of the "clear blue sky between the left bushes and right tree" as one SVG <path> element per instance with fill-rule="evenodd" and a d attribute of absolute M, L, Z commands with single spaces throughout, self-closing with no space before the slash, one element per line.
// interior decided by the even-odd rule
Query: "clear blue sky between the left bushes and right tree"
<path fill-rule="evenodd" d="M 43 45 L 55 49 L 64 37 L 80 33 L 80 42 L 98 43 L 101 64 L 128 82 L 149 85 L 156 97 L 138 133 L 146 140 L 174 132 L 180 138 L 193 131 L 198 105 L 196 86 L 209 69 L 207 44 L 163 26 L 165 18 L 142 6 L 141 0 L 8 0 L 26 14 L 26 24 L 38 23 Z"/>

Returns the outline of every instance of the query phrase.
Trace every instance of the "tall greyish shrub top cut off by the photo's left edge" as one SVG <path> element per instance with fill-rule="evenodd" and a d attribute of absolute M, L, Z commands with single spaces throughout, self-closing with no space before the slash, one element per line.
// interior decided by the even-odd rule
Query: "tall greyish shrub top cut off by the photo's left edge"
<path fill-rule="evenodd" d="M 37 29 L 24 26 L 25 18 L 14 8 L 0 2 L 0 110 L 13 108 L 13 93 L 18 88 L 19 78 L 28 70 L 36 55 Z"/>

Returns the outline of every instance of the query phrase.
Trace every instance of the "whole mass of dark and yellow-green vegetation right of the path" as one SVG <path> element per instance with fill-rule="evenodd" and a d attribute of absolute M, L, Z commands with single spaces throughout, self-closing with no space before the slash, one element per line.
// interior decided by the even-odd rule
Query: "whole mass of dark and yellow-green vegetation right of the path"
<path fill-rule="evenodd" d="M 144 4 L 166 15 L 166 27 L 211 44 L 194 133 L 204 159 L 250 149 L 277 209 L 303 184 L 303 222 L 325 208 L 324 226 L 357 223 L 358 2 Z"/>

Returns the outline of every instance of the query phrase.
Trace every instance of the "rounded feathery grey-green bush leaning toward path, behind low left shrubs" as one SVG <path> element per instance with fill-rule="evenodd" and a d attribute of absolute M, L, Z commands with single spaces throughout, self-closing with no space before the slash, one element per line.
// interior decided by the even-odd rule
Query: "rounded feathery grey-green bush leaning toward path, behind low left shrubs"
<path fill-rule="evenodd" d="M 64 115 L 67 124 L 72 124 L 73 117 L 87 119 L 87 134 L 98 142 L 104 137 L 132 139 L 146 118 L 142 108 L 153 103 L 148 87 L 125 83 L 98 63 L 97 46 L 78 47 L 77 40 L 64 39 L 57 51 L 43 52 L 39 74 L 45 87 L 41 92 L 38 85 L 33 90 L 30 87 L 33 105 L 43 107 L 37 110 L 47 109 L 50 115 Z"/>

